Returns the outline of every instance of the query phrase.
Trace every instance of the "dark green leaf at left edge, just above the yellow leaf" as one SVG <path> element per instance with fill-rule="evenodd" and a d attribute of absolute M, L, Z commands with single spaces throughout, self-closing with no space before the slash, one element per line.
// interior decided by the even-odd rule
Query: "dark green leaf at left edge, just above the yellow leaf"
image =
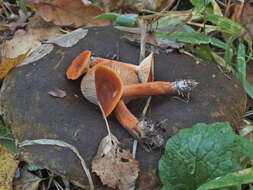
<path fill-rule="evenodd" d="M 18 153 L 11 130 L 8 127 L 0 125 L 0 144 L 11 150 L 13 153 Z"/>

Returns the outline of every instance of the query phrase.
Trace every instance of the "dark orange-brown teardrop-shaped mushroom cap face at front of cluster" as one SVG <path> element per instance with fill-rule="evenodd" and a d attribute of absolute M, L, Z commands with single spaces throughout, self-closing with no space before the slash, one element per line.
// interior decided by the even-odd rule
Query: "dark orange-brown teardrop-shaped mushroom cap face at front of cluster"
<path fill-rule="evenodd" d="M 98 66 L 95 70 L 95 86 L 97 99 L 104 113 L 108 116 L 118 104 L 123 84 L 119 75 L 106 66 Z"/>

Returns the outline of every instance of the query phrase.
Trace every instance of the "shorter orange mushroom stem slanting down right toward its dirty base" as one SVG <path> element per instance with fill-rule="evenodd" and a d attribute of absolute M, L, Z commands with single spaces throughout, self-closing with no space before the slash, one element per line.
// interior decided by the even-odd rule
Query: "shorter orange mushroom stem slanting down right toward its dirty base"
<path fill-rule="evenodd" d="M 114 110 L 114 115 L 120 124 L 136 139 L 144 135 L 139 120 L 128 110 L 123 100 L 120 100 Z"/>

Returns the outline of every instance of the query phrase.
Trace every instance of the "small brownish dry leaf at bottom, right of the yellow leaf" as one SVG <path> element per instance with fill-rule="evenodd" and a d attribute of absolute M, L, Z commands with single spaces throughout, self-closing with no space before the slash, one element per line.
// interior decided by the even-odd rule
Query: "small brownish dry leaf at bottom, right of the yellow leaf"
<path fill-rule="evenodd" d="M 42 180 L 42 178 L 37 177 L 23 168 L 21 170 L 21 176 L 13 180 L 13 190 L 38 190 L 39 183 Z"/>

